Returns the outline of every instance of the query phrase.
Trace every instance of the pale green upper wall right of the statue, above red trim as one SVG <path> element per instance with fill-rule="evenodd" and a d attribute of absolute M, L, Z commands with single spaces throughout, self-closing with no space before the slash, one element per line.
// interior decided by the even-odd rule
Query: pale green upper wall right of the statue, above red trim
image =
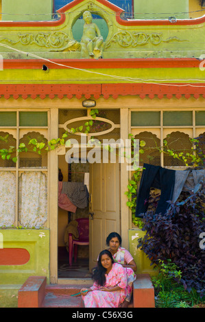
<path fill-rule="evenodd" d="M 136 19 L 165 19 L 169 16 L 184 19 L 189 18 L 188 12 L 189 0 L 134 0 Z"/>

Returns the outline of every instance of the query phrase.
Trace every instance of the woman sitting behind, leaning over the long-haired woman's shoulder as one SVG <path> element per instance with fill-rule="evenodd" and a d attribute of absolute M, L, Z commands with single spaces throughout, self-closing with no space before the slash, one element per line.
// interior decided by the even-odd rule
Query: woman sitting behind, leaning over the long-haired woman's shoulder
<path fill-rule="evenodd" d="M 125 267 L 128 279 L 127 285 L 127 297 L 121 307 L 126 308 L 130 303 L 130 299 L 132 297 L 132 284 L 134 280 L 136 280 L 136 275 L 134 271 L 136 271 L 136 262 L 132 258 L 131 253 L 121 247 L 121 236 L 117 234 L 117 232 L 111 232 L 106 238 L 106 244 L 108 245 L 108 250 L 112 253 L 112 257 L 114 262 L 121 264 Z"/>

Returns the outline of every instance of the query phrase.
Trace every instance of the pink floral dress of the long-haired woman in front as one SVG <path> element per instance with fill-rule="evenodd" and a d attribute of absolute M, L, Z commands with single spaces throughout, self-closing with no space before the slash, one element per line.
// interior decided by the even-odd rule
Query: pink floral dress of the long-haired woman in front
<path fill-rule="evenodd" d="M 125 269 L 120 264 L 112 264 L 112 269 L 106 274 L 106 284 L 104 287 L 119 286 L 121 290 L 114 292 L 99 290 L 99 286 L 94 282 L 91 287 L 92 292 L 82 295 L 84 306 L 86 308 L 118 308 L 119 304 L 123 303 L 127 295 L 127 274 Z"/>

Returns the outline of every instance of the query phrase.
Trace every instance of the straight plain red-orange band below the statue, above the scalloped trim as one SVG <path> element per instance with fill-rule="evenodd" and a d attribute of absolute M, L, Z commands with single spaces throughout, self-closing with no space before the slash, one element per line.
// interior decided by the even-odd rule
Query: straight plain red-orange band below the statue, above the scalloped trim
<path fill-rule="evenodd" d="M 57 64 L 53 64 L 53 63 Z M 42 69 L 43 64 L 49 69 L 65 69 L 71 66 L 78 69 L 147 69 L 147 68 L 199 68 L 196 58 L 127 58 L 127 59 L 58 59 L 50 60 L 3 60 L 3 69 Z M 62 64 L 65 66 L 60 66 Z"/>

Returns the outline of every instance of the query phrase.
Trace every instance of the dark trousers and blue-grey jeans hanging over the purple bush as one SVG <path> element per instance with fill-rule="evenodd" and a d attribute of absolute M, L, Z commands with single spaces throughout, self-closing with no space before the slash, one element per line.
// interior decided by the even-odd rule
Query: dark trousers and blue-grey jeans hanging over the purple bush
<path fill-rule="evenodd" d="M 167 201 L 176 202 L 182 191 L 194 191 L 199 184 L 205 183 L 205 169 L 195 170 L 171 170 L 144 164 L 141 183 L 136 200 L 135 216 L 143 218 L 148 208 L 150 188 L 161 190 L 160 200 L 156 208 L 156 214 L 165 214 L 169 208 Z"/>

